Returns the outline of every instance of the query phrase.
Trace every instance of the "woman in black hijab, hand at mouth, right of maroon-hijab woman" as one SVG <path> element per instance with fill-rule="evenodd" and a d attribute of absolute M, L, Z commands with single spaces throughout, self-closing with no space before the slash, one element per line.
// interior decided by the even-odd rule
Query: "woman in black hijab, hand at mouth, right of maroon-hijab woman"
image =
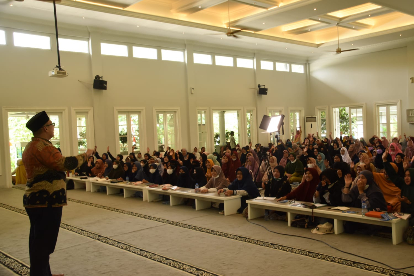
<path fill-rule="evenodd" d="M 319 175 L 319 178 L 321 182 L 316 187 L 313 202 L 331 206 L 346 206 L 347 204 L 342 202 L 342 188 L 345 183 L 339 181 L 337 171 L 326 169 Z"/>

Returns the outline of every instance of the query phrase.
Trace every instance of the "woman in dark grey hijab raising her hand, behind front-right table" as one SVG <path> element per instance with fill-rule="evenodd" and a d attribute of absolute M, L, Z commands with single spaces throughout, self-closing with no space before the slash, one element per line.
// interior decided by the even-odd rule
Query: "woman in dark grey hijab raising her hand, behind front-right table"
<path fill-rule="evenodd" d="M 393 169 L 394 170 L 394 169 Z M 357 185 L 350 189 L 352 178 L 350 174 L 345 176 L 345 187 L 342 191 L 342 201 L 351 207 L 361 208 L 361 203 L 365 201 L 370 210 L 380 208 L 387 210 L 383 192 L 374 182 L 374 176 L 370 171 L 362 171 L 359 175 Z"/>

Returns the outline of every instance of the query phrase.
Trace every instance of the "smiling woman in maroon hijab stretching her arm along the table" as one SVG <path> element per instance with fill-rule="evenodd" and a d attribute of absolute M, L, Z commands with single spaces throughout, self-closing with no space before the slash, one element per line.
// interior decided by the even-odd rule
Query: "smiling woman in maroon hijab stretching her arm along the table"
<path fill-rule="evenodd" d="M 319 175 L 316 169 L 308 168 L 305 173 L 305 181 L 302 182 L 294 191 L 290 192 L 278 201 L 285 199 L 296 199 L 298 201 L 313 202 L 313 195 L 319 184 Z"/>

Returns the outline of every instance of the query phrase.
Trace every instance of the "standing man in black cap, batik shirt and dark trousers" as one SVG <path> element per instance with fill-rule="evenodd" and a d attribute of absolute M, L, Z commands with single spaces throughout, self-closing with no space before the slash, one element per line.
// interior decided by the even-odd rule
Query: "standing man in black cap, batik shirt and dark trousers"
<path fill-rule="evenodd" d="M 33 116 L 26 127 L 33 138 L 24 149 L 27 186 L 23 205 L 30 219 L 30 275 L 52 276 L 49 255 L 53 253 L 66 203 L 65 171 L 80 167 L 93 150 L 74 157 L 64 157 L 49 141 L 55 124 L 45 111 Z"/>

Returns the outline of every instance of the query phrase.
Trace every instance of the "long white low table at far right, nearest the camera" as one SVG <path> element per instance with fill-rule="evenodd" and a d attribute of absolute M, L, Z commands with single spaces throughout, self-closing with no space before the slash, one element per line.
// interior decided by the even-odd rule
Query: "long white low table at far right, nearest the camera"
<path fill-rule="evenodd" d="M 276 200 L 263 200 L 263 199 L 251 199 L 246 201 L 248 204 L 249 219 L 255 219 L 264 216 L 264 210 L 275 210 L 287 213 L 288 225 L 291 226 L 295 216 L 300 215 L 312 215 L 312 209 L 303 208 L 298 206 L 290 206 L 289 203 L 280 203 Z M 295 203 L 302 203 L 301 201 L 295 201 Z M 344 232 L 344 221 L 359 222 L 366 224 L 374 224 L 380 226 L 391 227 L 393 245 L 399 244 L 403 241 L 404 231 L 408 227 L 408 220 L 395 219 L 390 221 L 380 221 L 377 218 L 363 217 L 361 209 L 350 208 L 347 211 L 357 211 L 359 213 L 350 214 L 342 213 L 340 210 L 332 210 L 330 206 L 323 206 L 320 208 L 313 209 L 313 215 L 315 217 L 322 217 L 328 219 L 334 219 L 335 234 Z"/>

